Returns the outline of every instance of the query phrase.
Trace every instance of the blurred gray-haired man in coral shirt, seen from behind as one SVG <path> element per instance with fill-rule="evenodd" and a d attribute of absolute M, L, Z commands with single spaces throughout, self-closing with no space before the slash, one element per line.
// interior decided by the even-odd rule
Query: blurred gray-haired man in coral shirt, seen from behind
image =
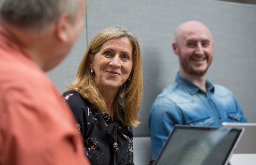
<path fill-rule="evenodd" d="M 69 53 L 85 0 L 6 0 L 0 10 L 0 164 L 89 164 L 46 76 Z"/>

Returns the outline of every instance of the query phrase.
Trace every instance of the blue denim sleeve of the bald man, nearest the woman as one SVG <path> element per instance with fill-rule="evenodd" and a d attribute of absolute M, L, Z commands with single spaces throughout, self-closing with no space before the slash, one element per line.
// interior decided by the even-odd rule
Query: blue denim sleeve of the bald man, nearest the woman
<path fill-rule="evenodd" d="M 181 123 L 181 114 L 173 102 L 164 97 L 156 98 L 149 114 L 152 159 L 160 152 L 173 126 Z"/>

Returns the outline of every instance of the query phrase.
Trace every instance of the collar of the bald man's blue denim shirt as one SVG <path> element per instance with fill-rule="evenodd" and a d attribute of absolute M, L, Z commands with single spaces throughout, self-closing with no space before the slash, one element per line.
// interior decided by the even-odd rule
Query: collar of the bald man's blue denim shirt
<path fill-rule="evenodd" d="M 182 85 L 187 91 L 189 91 L 189 93 L 191 95 L 196 94 L 197 92 L 203 92 L 205 93 L 203 90 L 201 90 L 199 87 L 197 87 L 196 85 L 194 85 L 192 82 L 190 82 L 189 80 L 187 80 L 185 77 L 183 77 L 182 75 L 179 74 L 179 72 L 176 75 L 176 82 L 178 82 L 180 85 Z M 212 93 L 214 93 L 214 86 L 213 84 L 208 81 L 206 79 L 206 89 L 207 91 L 211 91 Z"/>

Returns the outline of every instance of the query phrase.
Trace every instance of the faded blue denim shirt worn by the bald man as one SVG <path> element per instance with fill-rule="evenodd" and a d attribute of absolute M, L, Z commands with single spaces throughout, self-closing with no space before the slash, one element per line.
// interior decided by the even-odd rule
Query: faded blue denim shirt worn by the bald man
<path fill-rule="evenodd" d="M 149 114 L 152 158 L 175 124 L 219 127 L 222 122 L 248 122 L 233 93 L 206 80 L 207 92 L 177 73 L 155 99 Z"/>

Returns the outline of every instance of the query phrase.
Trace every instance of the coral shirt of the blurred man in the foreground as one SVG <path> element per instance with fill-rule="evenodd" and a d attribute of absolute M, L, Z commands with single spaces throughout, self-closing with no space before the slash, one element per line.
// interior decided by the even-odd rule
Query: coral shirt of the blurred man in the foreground
<path fill-rule="evenodd" d="M 0 164 L 90 164 L 74 123 L 44 71 L 0 25 Z"/>

